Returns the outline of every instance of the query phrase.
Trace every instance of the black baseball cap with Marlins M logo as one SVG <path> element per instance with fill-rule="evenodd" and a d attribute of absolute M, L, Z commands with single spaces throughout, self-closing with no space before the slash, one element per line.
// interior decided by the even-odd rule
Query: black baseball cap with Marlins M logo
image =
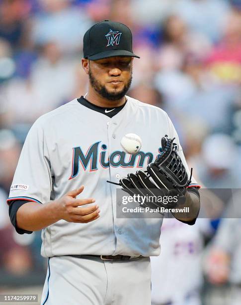
<path fill-rule="evenodd" d="M 83 36 L 83 57 L 97 60 L 112 56 L 137 57 L 132 50 L 132 33 L 120 22 L 104 20 L 92 25 Z"/>

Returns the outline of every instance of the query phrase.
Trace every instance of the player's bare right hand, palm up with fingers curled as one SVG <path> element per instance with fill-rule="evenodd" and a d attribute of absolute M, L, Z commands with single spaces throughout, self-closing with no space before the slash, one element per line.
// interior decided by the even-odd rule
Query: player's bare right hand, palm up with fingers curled
<path fill-rule="evenodd" d="M 94 203 L 95 199 L 77 199 L 76 197 L 83 191 L 84 186 L 79 189 L 69 191 L 66 195 L 56 200 L 57 212 L 61 219 L 68 222 L 87 223 L 99 218 L 98 205 L 82 207 L 86 204 Z"/>

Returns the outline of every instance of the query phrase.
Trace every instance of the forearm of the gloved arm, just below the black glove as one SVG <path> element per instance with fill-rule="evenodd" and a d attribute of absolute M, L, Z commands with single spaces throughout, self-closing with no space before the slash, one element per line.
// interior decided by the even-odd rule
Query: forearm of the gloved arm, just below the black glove
<path fill-rule="evenodd" d="M 198 217 L 200 210 L 200 197 L 198 194 L 187 191 L 186 200 L 184 203 L 178 205 L 178 209 L 188 207 L 188 212 L 173 212 L 172 215 L 181 221 L 192 221 Z"/>

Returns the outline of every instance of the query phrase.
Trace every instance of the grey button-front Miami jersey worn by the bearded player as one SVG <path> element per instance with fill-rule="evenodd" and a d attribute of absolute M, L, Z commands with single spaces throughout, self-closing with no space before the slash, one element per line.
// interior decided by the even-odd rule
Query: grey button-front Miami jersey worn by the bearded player
<path fill-rule="evenodd" d="M 136 155 L 121 149 L 120 141 L 129 133 L 142 139 Z M 175 137 L 179 145 L 164 111 L 128 96 L 125 107 L 112 118 L 81 105 L 77 99 L 41 116 L 27 135 L 8 200 L 44 204 L 83 184 L 78 198 L 93 197 L 100 208 L 100 217 L 93 222 L 60 220 L 46 227 L 41 255 L 159 255 L 162 219 L 117 218 L 118 186 L 106 180 L 119 182 L 129 172 L 146 169 L 160 153 L 164 135 Z M 178 153 L 190 175 L 180 146 Z M 194 178 L 192 183 L 196 184 Z"/>

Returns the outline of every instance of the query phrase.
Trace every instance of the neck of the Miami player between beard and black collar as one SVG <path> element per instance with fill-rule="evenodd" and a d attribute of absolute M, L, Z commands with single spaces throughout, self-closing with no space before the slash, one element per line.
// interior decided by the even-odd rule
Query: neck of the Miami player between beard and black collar
<path fill-rule="evenodd" d="M 116 101 L 108 100 L 101 95 L 99 95 L 91 86 L 88 88 L 88 93 L 85 96 L 86 100 L 90 103 L 99 107 L 119 107 L 125 104 L 126 98 L 123 96 L 121 99 Z"/>

